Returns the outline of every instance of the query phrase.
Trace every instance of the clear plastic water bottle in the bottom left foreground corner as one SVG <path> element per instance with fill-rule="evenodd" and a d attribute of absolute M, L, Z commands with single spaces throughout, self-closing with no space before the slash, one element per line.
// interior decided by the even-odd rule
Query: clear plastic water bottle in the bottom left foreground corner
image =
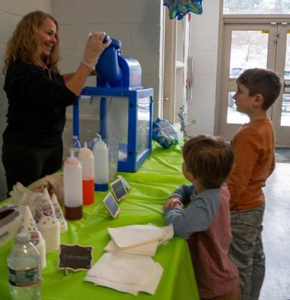
<path fill-rule="evenodd" d="M 29 233 L 19 233 L 7 259 L 11 300 L 41 299 L 41 258 L 29 238 Z"/>

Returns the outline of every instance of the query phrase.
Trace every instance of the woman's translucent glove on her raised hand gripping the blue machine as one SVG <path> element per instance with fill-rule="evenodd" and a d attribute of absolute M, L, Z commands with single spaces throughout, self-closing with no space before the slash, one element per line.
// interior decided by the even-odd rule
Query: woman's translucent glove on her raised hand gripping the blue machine
<path fill-rule="evenodd" d="M 111 44 L 111 40 L 108 40 L 105 44 L 103 43 L 106 33 L 90 33 L 88 40 L 86 42 L 86 49 L 83 53 L 83 60 L 81 62 L 90 67 L 90 69 L 95 69 L 95 65 L 99 56 L 102 54 L 104 49 Z"/>

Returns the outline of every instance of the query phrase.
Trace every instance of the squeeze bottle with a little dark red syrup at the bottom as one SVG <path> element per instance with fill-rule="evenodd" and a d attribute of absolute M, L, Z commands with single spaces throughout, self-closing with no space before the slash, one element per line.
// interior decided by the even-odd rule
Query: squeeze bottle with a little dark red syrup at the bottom
<path fill-rule="evenodd" d="M 70 151 L 70 157 L 63 167 L 63 194 L 65 219 L 76 220 L 83 217 L 83 187 L 81 163 Z"/>

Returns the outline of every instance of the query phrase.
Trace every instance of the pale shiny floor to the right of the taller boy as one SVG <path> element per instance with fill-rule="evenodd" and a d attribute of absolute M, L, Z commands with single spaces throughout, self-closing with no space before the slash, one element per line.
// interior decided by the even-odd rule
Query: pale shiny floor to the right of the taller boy
<path fill-rule="evenodd" d="M 290 164 L 277 163 L 264 190 L 266 277 L 259 300 L 290 299 Z"/>

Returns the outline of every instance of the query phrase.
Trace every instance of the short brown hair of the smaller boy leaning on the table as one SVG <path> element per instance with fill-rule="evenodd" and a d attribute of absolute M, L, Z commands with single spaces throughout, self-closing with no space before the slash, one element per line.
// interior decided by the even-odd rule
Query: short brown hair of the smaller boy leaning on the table
<path fill-rule="evenodd" d="M 220 188 L 234 162 L 232 147 L 220 137 L 198 135 L 188 140 L 182 154 L 188 172 L 198 177 L 204 188 Z"/>

